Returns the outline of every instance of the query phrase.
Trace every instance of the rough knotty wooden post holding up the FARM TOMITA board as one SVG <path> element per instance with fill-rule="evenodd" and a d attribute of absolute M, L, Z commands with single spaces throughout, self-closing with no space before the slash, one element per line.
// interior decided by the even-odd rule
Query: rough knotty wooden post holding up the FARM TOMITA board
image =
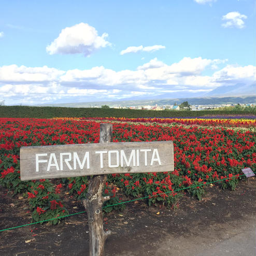
<path fill-rule="evenodd" d="M 112 124 L 101 123 L 99 143 L 112 141 Z M 94 175 L 89 180 L 87 198 L 84 200 L 89 225 L 89 256 L 104 256 L 104 245 L 110 231 L 103 230 L 102 205 L 109 196 L 102 196 L 107 175 Z"/>

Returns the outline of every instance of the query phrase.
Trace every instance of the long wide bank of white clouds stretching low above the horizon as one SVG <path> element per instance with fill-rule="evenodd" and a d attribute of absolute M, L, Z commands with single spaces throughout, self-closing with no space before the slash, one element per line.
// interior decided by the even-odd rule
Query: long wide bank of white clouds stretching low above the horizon
<path fill-rule="evenodd" d="M 212 65 L 227 60 L 185 57 L 170 65 L 157 58 L 136 70 L 116 72 L 103 66 L 91 69 L 58 70 L 47 66 L 0 67 L 0 96 L 7 105 L 42 104 L 58 101 L 103 101 L 168 93 L 209 92 L 221 86 L 255 83 L 256 67 L 226 65 L 212 75 L 203 75 Z"/>

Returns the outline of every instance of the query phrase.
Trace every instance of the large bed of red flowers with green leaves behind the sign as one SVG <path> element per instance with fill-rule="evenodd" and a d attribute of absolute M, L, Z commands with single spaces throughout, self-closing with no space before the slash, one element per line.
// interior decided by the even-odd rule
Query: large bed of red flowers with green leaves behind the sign
<path fill-rule="evenodd" d="M 87 177 L 73 177 L 57 181 L 21 181 L 20 147 L 98 143 L 98 120 L 101 119 L 98 118 L 95 122 L 81 119 L 0 119 L 0 184 L 13 191 L 13 195 L 23 193 L 27 197 L 34 220 L 66 215 L 65 205 L 61 201 L 62 193 L 67 190 L 70 196 L 81 200 L 86 195 L 88 180 Z M 118 119 L 109 119 L 110 122 L 111 120 Z M 148 122 L 148 119 L 136 120 Z M 209 121 L 208 125 L 211 123 L 211 120 L 206 121 Z M 221 125 L 222 122 L 225 123 L 220 120 L 218 124 Z M 215 122 L 212 121 L 212 124 L 214 126 Z M 243 124 L 249 125 L 244 121 Z M 160 123 L 147 126 L 113 123 L 113 142 L 154 140 L 174 141 L 174 172 L 108 175 L 104 195 L 111 195 L 111 199 L 105 206 L 112 206 L 105 207 L 105 211 L 119 209 L 121 205 L 113 204 L 119 203 L 123 195 L 147 197 L 149 205 L 159 202 L 175 206 L 182 196 L 181 191 L 187 187 L 191 188 L 186 191 L 201 199 L 205 193 L 202 184 L 220 180 L 218 183 L 221 188 L 235 189 L 238 181 L 243 178 L 240 177 L 242 168 L 251 167 L 255 172 L 256 139 L 255 133 L 250 131 L 243 133 L 197 126 L 168 127 Z M 59 219 L 53 219 L 52 222 L 56 224 Z"/>

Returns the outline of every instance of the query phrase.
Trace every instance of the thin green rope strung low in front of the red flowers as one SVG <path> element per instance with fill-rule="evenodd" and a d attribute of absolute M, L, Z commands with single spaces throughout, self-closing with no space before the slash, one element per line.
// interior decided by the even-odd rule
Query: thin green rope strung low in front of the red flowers
<path fill-rule="evenodd" d="M 253 173 L 254 173 L 254 172 L 253 172 Z M 254 174 L 255 174 L 255 173 L 254 173 Z M 239 176 L 237 176 L 237 177 L 241 177 L 241 176 L 246 176 L 246 175 L 245 175 L 245 174 L 242 174 L 242 175 L 239 175 Z M 205 185 L 207 185 L 207 184 L 212 184 L 212 183 L 220 182 L 220 181 L 222 181 L 222 180 L 227 180 L 227 179 L 230 180 L 230 179 L 237 178 L 237 177 L 220 179 L 220 180 L 216 180 L 216 181 L 212 181 L 212 182 L 207 182 L 207 183 L 203 183 L 203 184 L 198 184 L 198 185 L 195 185 L 195 186 L 190 186 L 190 187 L 187 187 L 187 188 L 176 189 L 176 190 L 174 190 L 174 191 L 163 192 L 163 193 L 160 193 L 160 194 L 157 194 L 157 195 L 149 195 L 149 196 L 145 196 L 145 197 L 140 197 L 140 198 L 136 198 L 136 199 L 129 200 L 129 201 L 125 201 L 125 202 L 120 202 L 120 203 L 116 203 L 116 204 L 112 204 L 112 205 L 103 206 L 102 208 L 107 208 L 107 207 L 110 207 L 110 206 L 126 204 L 126 203 L 130 203 L 130 202 L 134 202 L 134 201 L 138 201 L 138 200 L 142 200 L 142 199 L 146 199 L 146 198 L 150 198 L 150 197 L 155 197 L 155 196 L 162 195 L 162 194 L 173 193 L 173 192 L 180 191 L 180 190 L 186 190 L 186 189 L 190 189 L 190 188 L 194 188 L 194 187 L 201 187 L 201 186 L 205 186 Z M 23 226 L 29 226 L 29 225 L 33 225 L 33 224 L 37 224 L 37 223 L 42 223 L 42 222 L 45 222 L 45 221 L 50 221 L 50 220 L 55 220 L 55 219 L 61 219 L 61 218 L 65 218 L 65 217 L 73 216 L 73 215 L 77 215 L 77 214 L 83 214 L 84 212 L 86 212 L 86 211 L 75 212 L 74 214 L 69 214 L 69 215 L 65 215 L 65 216 L 55 217 L 55 218 L 48 219 L 48 220 L 41 220 L 41 221 L 37 221 L 37 222 L 33 222 L 33 223 L 28 223 L 28 224 L 20 225 L 20 226 L 13 226 L 13 227 L 9 227 L 8 229 L 0 230 L 0 232 L 6 231 L 6 230 L 17 229 L 18 227 L 23 227 Z"/>

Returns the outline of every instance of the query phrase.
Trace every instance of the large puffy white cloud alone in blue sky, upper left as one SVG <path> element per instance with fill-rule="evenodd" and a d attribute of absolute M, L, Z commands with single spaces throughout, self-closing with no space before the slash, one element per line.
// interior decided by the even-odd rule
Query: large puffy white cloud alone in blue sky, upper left
<path fill-rule="evenodd" d="M 79 23 L 66 27 L 54 41 L 46 47 L 49 54 L 75 54 L 82 53 L 89 56 L 99 48 L 111 45 L 107 40 L 107 33 L 98 36 L 93 26 Z"/>

